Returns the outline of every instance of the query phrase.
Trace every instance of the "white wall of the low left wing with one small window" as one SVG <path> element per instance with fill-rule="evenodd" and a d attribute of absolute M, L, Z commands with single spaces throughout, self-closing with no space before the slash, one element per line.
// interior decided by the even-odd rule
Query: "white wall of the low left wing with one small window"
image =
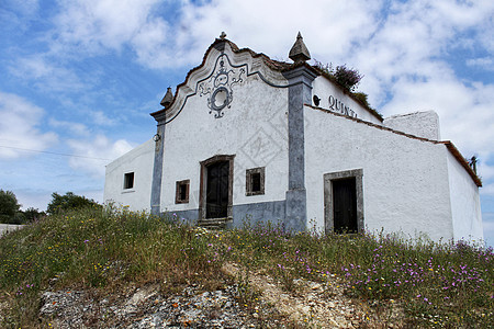
<path fill-rule="evenodd" d="M 155 143 L 149 139 L 106 166 L 105 203 L 115 202 L 131 211 L 150 209 L 154 147 Z M 134 188 L 124 190 L 124 174 L 127 172 L 134 172 Z"/>

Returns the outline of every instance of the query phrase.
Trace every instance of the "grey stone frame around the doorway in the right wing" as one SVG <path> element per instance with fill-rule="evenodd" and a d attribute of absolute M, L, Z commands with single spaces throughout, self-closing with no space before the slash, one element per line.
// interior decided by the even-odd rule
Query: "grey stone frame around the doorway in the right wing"
<path fill-rule="evenodd" d="M 335 231 L 335 214 L 333 204 L 333 181 L 355 178 L 355 188 L 357 196 L 357 229 L 362 232 L 363 226 L 363 169 L 353 169 L 324 174 L 324 227 L 326 234 Z"/>

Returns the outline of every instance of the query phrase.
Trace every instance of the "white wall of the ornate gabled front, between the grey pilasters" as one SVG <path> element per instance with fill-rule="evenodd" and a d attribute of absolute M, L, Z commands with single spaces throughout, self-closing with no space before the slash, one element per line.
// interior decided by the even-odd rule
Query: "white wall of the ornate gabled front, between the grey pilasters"
<path fill-rule="evenodd" d="M 234 64 L 250 60 L 225 50 Z M 218 54 L 212 52 L 210 70 Z M 254 71 L 249 64 L 249 72 Z M 191 77 L 191 80 L 200 77 Z M 281 81 L 287 83 L 287 81 Z M 190 89 L 189 89 L 190 88 Z M 194 90 L 188 86 L 186 90 Z M 235 84 L 231 109 L 224 116 L 210 114 L 207 97 L 189 97 L 186 106 L 166 125 L 161 211 L 199 207 L 200 161 L 215 155 L 235 155 L 233 204 L 281 201 L 288 190 L 288 89 L 273 88 L 258 75 Z M 178 102 L 179 103 L 179 102 Z M 246 196 L 246 169 L 266 167 L 265 195 Z M 190 179 L 187 204 L 175 204 L 176 181 Z"/>

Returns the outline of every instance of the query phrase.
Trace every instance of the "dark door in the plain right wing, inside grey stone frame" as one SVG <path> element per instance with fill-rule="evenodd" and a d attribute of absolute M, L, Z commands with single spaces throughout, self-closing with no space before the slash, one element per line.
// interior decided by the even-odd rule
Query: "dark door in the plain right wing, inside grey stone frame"
<path fill-rule="evenodd" d="M 357 193 L 355 178 L 333 181 L 335 232 L 357 232 Z"/>

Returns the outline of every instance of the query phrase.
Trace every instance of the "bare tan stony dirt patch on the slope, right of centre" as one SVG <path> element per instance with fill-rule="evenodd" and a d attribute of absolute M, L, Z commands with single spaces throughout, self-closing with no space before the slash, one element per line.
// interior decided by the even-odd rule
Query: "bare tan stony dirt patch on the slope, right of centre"
<path fill-rule="evenodd" d="M 222 270 L 232 276 L 242 274 L 238 265 L 226 263 Z M 249 283 L 260 298 L 301 327 L 313 328 L 401 328 L 403 310 L 394 300 L 389 305 L 348 297 L 341 282 L 328 276 L 323 283 L 299 279 L 287 291 L 278 280 L 265 273 L 249 272 Z"/>

